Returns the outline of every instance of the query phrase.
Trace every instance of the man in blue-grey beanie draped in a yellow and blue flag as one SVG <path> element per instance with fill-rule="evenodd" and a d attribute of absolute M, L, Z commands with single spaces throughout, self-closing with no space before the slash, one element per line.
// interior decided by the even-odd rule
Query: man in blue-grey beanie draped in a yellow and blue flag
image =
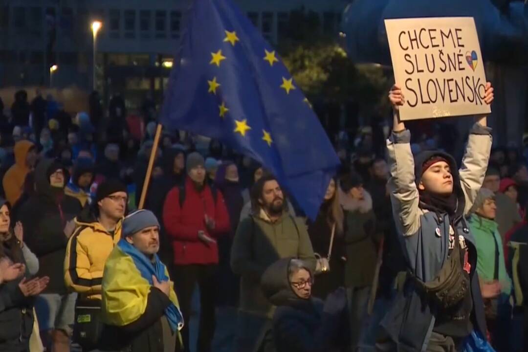
<path fill-rule="evenodd" d="M 138 210 L 122 224 L 122 238 L 105 264 L 101 349 L 174 352 L 181 348 L 182 313 L 165 265 L 159 260 L 159 223 Z"/>

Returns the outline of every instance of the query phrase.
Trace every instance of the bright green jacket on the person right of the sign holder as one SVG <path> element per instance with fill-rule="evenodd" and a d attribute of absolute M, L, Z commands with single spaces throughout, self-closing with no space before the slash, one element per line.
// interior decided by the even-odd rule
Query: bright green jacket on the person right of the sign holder
<path fill-rule="evenodd" d="M 477 214 L 469 217 L 469 228 L 475 237 L 477 247 L 477 272 L 480 280 L 492 281 L 495 273 L 495 254 L 498 248 L 498 281 L 502 286 L 502 293 L 510 295 L 512 280 L 506 272 L 504 250 L 498 225 Z"/>

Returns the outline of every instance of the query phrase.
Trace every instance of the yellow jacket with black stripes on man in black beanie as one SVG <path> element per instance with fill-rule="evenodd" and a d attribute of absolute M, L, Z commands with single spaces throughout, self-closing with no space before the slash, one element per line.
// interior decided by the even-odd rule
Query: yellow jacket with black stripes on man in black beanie
<path fill-rule="evenodd" d="M 70 237 L 64 258 L 64 281 L 80 300 L 101 299 L 105 262 L 121 239 L 120 220 L 112 235 L 85 208 L 76 218 L 77 229 Z"/>

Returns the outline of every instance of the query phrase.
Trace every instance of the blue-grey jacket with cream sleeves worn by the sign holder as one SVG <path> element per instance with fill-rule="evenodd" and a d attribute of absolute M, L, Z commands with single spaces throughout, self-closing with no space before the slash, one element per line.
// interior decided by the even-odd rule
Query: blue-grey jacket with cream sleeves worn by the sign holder
<path fill-rule="evenodd" d="M 417 157 L 410 148 L 410 132 L 393 133 L 387 141 L 391 178 L 391 202 L 398 237 L 406 256 L 409 271 L 422 281 L 435 279 L 448 257 L 450 219 L 447 214 L 429 212 L 420 203 L 415 177 L 421 175 L 421 166 L 432 156 L 444 157 L 452 170 L 454 192 L 458 196 L 457 216 L 453 223 L 459 236 L 468 246 L 471 265 L 471 294 L 473 298 L 472 322 L 485 336 L 484 305 L 476 272 L 477 251 L 475 241 L 464 220 L 482 186 L 492 146 L 491 129 L 476 124 L 470 131 L 466 154 L 456 172 L 455 160 L 440 151 L 427 152 Z M 416 170 L 415 170 L 416 167 Z M 438 229 L 438 230 L 437 230 Z M 439 235 L 438 235 L 439 232 Z M 435 326 L 436 307 L 418 292 L 414 280 L 407 280 L 392 302 L 381 325 L 398 345 L 398 351 L 425 351 Z"/>

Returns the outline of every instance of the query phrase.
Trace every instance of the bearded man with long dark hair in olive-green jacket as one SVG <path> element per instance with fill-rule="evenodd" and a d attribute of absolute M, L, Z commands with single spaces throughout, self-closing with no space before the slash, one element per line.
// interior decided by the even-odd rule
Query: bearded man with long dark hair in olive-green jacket
<path fill-rule="evenodd" d="M 238 226 L 231 268 L 241 277 L 237 351 L 275 351 L 271 318 L 275 307 L 263 296 L 260 279 L 281 258 L 298 258 L 315 270 L 315 256 L 303 221 L 288 214 L 286 200 L 273 176 L 251 189 L 252 215 Z"/>

